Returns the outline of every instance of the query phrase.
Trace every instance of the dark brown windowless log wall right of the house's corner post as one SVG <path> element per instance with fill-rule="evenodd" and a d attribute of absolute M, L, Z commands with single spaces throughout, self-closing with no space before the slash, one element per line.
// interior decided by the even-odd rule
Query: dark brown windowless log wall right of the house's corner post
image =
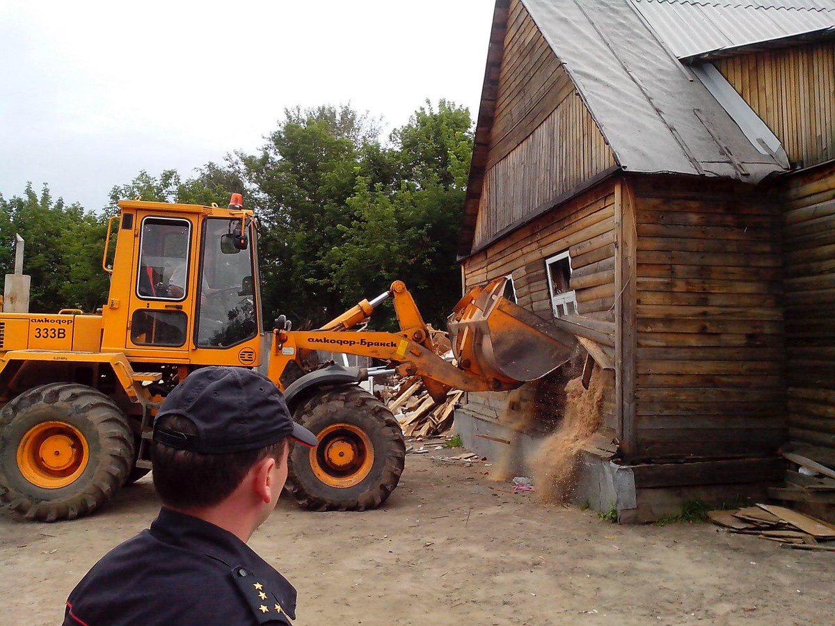
<path fill-rule="evenodd" d="M 672 177 L 632 177 L 624 193 L 636 230 L 631 453 L 775 452 L 786 440 L 777 202 Z"/>

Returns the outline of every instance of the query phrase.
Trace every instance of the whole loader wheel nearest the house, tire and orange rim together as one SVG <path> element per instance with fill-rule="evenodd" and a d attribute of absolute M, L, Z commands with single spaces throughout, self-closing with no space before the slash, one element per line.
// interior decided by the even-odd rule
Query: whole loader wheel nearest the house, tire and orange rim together
<path fill-rule="evenodd" d="M 315 511 L 365 511 L 391 494 L 406 458 L 392 412 L 358 386 L 318 391 L 296 408 L 296 422 L 319 446 L 296 444 L 288 458 L 287 490 Z"/>

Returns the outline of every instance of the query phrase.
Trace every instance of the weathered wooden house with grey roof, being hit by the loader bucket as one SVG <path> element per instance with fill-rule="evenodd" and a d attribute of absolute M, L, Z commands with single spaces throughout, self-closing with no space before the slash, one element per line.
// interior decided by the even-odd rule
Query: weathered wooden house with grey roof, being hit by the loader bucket
<path fill-rule="evenodd" d="M 835 2 L 498 0 L 459 255 L 610 360 L 579 499 L 640 521 L 761 493 L 780 447 L 835 466 Z M 469 445 L 505 402 L 468 394 Z"/>

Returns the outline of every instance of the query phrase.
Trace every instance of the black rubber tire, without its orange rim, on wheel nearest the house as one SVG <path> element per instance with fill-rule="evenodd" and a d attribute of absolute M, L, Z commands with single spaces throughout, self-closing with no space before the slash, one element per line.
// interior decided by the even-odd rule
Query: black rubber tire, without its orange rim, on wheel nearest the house
<path fill-rule="evenodd" d="M 301 507 L 313 511 L 365 511 L 377 508 L 386 501 L 400 482 L 400 475 L 406 464 L 406 443 L 403 441 L 400 424 L 387 406 L 361 387 L 342 386 L 317 393 L 296 408 L 294 417 L 296 422 L 305 426 L 311 416 L 320 414 L 321 411 L 331 415 L 337 414 L 343 407 L 352 407 L 354 411 L 371 414 L 383 422 L 382 430 L 385 433 L 387 450 L 382 451 L 386 452 L 382 478 L 352 500 L 328 499 L 306 490 L 304 483 L 294 471 L 291 459 L 288 459 L 286 488 Z"/>

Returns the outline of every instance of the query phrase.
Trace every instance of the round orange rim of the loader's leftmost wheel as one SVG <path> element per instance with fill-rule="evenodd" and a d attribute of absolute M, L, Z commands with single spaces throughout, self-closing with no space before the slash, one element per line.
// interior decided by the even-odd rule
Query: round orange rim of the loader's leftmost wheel
<path fill-rule="evenodd" d="M 72 483 L 87 467 L 87 439 L 67 422 L 42 422 L 23 435 L 18 468 L 36 487 L 59 489 Z"/>

